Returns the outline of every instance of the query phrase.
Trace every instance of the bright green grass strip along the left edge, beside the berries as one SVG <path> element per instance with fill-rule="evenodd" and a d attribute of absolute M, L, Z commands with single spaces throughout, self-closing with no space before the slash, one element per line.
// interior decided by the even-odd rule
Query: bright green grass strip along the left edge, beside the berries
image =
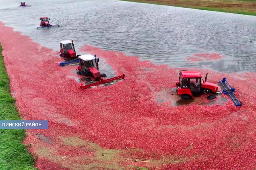
<path fill-rule="evenodd" d="M 7 76 L 1 54 L 0 44 L 0 120 L 21 120 L 10 94 Z M 24 129 L 0 129 L 0 169 L 1 170 L 36 170 L 35 160 L 22 144 Z"/>

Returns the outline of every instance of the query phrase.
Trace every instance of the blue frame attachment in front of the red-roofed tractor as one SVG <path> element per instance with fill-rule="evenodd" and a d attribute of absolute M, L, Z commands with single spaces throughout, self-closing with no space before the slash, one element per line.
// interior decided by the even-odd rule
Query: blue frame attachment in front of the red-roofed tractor
<path fill-rule="evenodd" d="M 236 98 L 236 95 L 234 94 L 236 92 L 234 87 L 231 87 L 226 78 L 223 78 L 223 80 L 220 80 L 221 85 L 223 86 L 223 94 L 228 94 L 232 101 L 234 102 L 235 106 L 241 106 L 241 102 Z"/>

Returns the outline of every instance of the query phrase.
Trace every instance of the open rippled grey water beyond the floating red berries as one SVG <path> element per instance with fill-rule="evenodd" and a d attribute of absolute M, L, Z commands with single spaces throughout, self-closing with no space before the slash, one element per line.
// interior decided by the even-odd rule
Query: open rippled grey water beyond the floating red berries
<path fill-rule="evenodd" d="M 56 51 L 59 41 L 73 39 L 77 49 L 88 44 L 171 67 L 255 71 L 256 42 L 250 42 L 256 37 L 255 16 L 113 0 L 27 1 L 31 7 L 18 7 L 14 0 L 0 3 L 4 4 L 1 21 Z M 42 16 L 61 26 L 36 29 Z M 197 53 L 225 57 L 218 61 L 186 60 Z M 103 65 L 106 73 L 113 74 Z"/>

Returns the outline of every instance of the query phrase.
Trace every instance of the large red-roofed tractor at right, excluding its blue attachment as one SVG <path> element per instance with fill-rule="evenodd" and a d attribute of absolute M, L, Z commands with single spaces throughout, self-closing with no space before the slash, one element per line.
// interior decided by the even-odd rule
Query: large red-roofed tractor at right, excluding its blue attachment
<path fill-rule="evenodd" d="M 181 95 L 182 99 L 194 98 L 201 94 L 216 93 L 218 86 L 213 83 L 201 80 L 202 76 L 198 71 L 180 71 L 179 81 L 176 82 L 178 95 Z"/>

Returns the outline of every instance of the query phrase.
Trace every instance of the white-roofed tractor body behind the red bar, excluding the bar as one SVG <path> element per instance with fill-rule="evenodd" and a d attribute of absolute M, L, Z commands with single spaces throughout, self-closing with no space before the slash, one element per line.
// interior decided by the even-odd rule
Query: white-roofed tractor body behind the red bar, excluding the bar
<path fill-rule="evenodd" d="M 100 74 L 99 71 L 99 59 L 90 54 L 79 56 L 79 65 L 77 69 L 79 70 L 79 75 L 84 75 L 90 77 L 91 79 L 99 80 L 101 77 L 106 77 L 105 74 Z"/>

